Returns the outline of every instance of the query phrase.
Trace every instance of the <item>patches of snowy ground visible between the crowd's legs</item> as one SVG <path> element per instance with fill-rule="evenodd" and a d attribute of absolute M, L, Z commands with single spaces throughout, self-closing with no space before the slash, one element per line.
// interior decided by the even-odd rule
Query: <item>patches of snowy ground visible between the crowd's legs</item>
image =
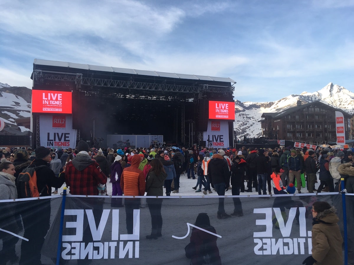
<path fill-rule="evenodd" d="M 317 189 L 318 186 L 320 185 L 320 180 L 319 180 L 319 173 L 317 173 L 317 180 L 318 183 L 315 183 L 315 188 Z M 187 173 L 184 173 L 184 175 L 181 175 L 181 178 L 179 179 L 179 193 L 171 193 L 171 196 L 217 196 L 218 194 L 215 192 L 215 190 L 212 190 L 213 193 L 209 192 L 204 195 L 203 194 L 203 186 L 202 186 L 202 192 L 195 192 L 194 189 L 192 189 L 192 187 L 194 187 L 197 183 L 197 178 L 196 179 L 188 179 L 187 178 Z M 58 189 L 58 192 L 62 193 L 63 192 L 63 187 L 65 187 L 65 183 L 64 185 Z M 245 182 L 245 189 L 247 189 L 247 182 Z M 256 192 L 256 189 L 253 188 L 252 189 L 253 192 L 244 192 L 244 193 L 240 193 L 240 195 L 258 195 L 258 192 Z M 52 191 L 54 191 L 54 188 L 52 188 Z M 107 182 L 107 192 L 108 195 L 112 195 L 112 183 Z M 164 189 L 164 193 L 165 193 L 165 189 Z M 267 184 L 267 193 L 268 193 L 268 184 Z M 295 192 L 297 194 L 297 190 Z M 308 193 L 307 188 L 301 188 L 301 193 Z M 273 193 L 273 189 L 272 189 L 272 194 Z M 145 193 L 146 195 L 146 193 Z M 166 194 L 164 194 L 165 196 Z M 231 189 L 229 189 L 227 192 L 225 192 L 225 195 L 232 195 L 231 193 Z"/>

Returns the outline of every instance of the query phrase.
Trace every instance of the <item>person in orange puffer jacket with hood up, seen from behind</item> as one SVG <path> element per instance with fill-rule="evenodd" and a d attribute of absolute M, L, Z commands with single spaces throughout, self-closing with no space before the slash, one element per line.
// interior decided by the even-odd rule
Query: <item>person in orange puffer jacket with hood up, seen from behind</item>
<path fill-rule="evenodd" d="M 145 194 L 145 176 L 144 172 L 138 167 L 140 165 L 140 156 L 133 155 L 131 166 L 126 167 L 120 177 L 120 187 L 124 196 L 144 196 Z M 126 226 L 128 234 L 133 234 L 133 212 L 139 209 L 140 198 L 126 198 L 124 200 L 126 213 Z"/>

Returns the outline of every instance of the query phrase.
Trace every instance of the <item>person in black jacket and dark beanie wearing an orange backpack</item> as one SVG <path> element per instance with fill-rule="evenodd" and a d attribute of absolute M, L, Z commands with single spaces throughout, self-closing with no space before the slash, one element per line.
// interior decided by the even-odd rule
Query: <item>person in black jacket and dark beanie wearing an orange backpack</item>
<path fill-rule="evenodd" d="M 18 198 L 25 198 L 26 190 L 23 178 L 25 172 L 34 169 L 36 175 L 37 190 L 39 196 L 50 196 L 52 187 L 60 188 L 64 183 L 64 176 L 57 177 L 53 170 L 49 168 L 51 159 L 50 149 L 44 146 L 35 149 L 36 157 L 33 162 L 26 167 L 17 179 Z M 33 175 L 34 176 L 34 175 Z M 28 194 L 28 193 L 27 193 Z M 20 265 L 41 264 L 41 249 L 50 227 L 50 200 L 34 200 L 30 207 L 21 212 L 24 234 L 23 237 L 29 241 L 22 240 Z"/>

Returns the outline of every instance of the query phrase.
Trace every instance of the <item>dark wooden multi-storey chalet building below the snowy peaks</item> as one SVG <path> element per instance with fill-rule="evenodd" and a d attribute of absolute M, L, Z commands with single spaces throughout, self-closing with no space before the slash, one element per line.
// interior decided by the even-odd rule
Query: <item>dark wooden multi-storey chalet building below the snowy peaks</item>
<path fill-rule="evenodd" d="M 344 115 L 346 139 L 349 139 L 351 115 L 341 109 L 333 108 L 320 101 L 302 105 L 277 113 L 262 114 L 262 132 L 267 139 L 310 142 L 317 145 L 337 141 L 336 114 Z"/>

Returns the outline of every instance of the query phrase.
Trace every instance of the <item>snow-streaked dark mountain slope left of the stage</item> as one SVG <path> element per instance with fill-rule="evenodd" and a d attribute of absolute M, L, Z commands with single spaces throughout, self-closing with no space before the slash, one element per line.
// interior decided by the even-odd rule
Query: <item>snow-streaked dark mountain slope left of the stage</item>
<path fill-rule="evenodd" d="M 10 87 L 8 84 L 0 83 L 0 117 L 5 124 L 14 125 L 17 128 L 17 118 L 31 116 L 31 95 L 32 90 L 26 87 Z M 28 131 L 23 126 L 19 129 Z"/>

